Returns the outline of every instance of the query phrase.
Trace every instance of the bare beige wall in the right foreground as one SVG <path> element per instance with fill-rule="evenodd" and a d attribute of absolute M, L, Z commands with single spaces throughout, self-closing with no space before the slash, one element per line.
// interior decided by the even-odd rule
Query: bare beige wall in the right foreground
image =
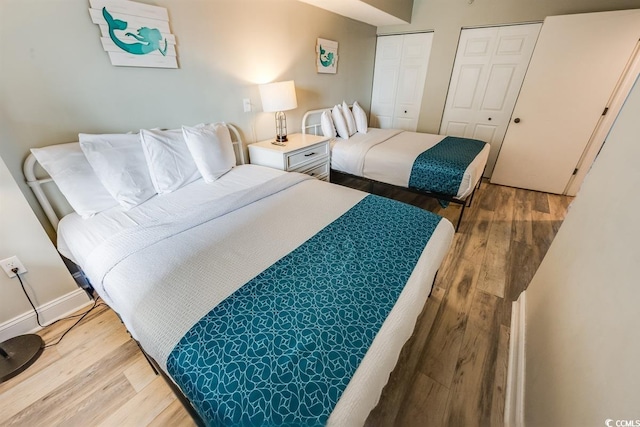
<path fill-rule="evenodd" d="M 527 289 L 528 426 L 640 419 L 640 84 Z"/>

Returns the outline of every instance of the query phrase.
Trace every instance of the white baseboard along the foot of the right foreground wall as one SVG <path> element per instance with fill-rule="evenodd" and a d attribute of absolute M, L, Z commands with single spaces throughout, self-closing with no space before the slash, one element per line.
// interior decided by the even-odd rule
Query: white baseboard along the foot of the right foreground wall
<path fill-rule="evenodd" d="M 524 427 L 526 291 L 511 306 L 509 369 L 504 404 L 505 427 Z"/>

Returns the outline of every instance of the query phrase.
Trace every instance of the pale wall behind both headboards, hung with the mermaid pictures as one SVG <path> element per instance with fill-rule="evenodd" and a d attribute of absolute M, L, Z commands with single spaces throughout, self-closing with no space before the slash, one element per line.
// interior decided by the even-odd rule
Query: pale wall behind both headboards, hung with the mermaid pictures
<path fill-rule="evenodd" d="M 273 114 L 261 112 L 257 84 L 268 81 L 295 80 L 299 108 L 287 112 L 289 132 L 300 130 L 306 110 L 343 99 L 370 105 L 375 27 L 296 0 L 142 2 L 168 9 L 179 69 L 112 66 L 87 0 L 0 0 L 0 157 L 52 238 L 22 176 L 31 147 L 74 141 L 79 132 L 210 121 L 237 125 L 248 142 L 266 139 L 275 126 Z M 318 37 L 339 43 L 335 75 L 316 72 Z M 242 111 L 243 98 L 253 113 Z M 10 240 L 20 236 L 31 251 L 48 247 L 17 233 Z M 49 281 L 38 298 L 68 291 Z M 27 311 L 24 297 L 0 292 L 0 324 Z"/>

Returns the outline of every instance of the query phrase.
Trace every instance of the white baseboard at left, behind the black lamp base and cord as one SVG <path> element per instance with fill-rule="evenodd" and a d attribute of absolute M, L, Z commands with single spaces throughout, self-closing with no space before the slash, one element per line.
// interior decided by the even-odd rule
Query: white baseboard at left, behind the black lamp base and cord
<path fill-rule="evenodd" d="M 38 307 L 40 321 L 46 326 L 90 304 L 92 304 L 92 301 L 87 296 L 87 293 L 82 289 L 76 289 Z M 38 326 L 36 314 L 32 310 L 0 324 L 0 342 L 40 329 L 42 328 Z"/>

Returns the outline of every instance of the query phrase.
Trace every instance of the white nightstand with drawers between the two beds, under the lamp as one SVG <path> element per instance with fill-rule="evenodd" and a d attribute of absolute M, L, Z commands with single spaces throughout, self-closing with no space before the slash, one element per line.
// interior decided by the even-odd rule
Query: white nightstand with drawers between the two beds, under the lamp
<path fill-rule="evenodd" d="M 329 138 L 301 133 L 287 138 L 284 146 L 272 144 L 273 138 L 249 144 L 251 163 L 329 181 Z"/>

